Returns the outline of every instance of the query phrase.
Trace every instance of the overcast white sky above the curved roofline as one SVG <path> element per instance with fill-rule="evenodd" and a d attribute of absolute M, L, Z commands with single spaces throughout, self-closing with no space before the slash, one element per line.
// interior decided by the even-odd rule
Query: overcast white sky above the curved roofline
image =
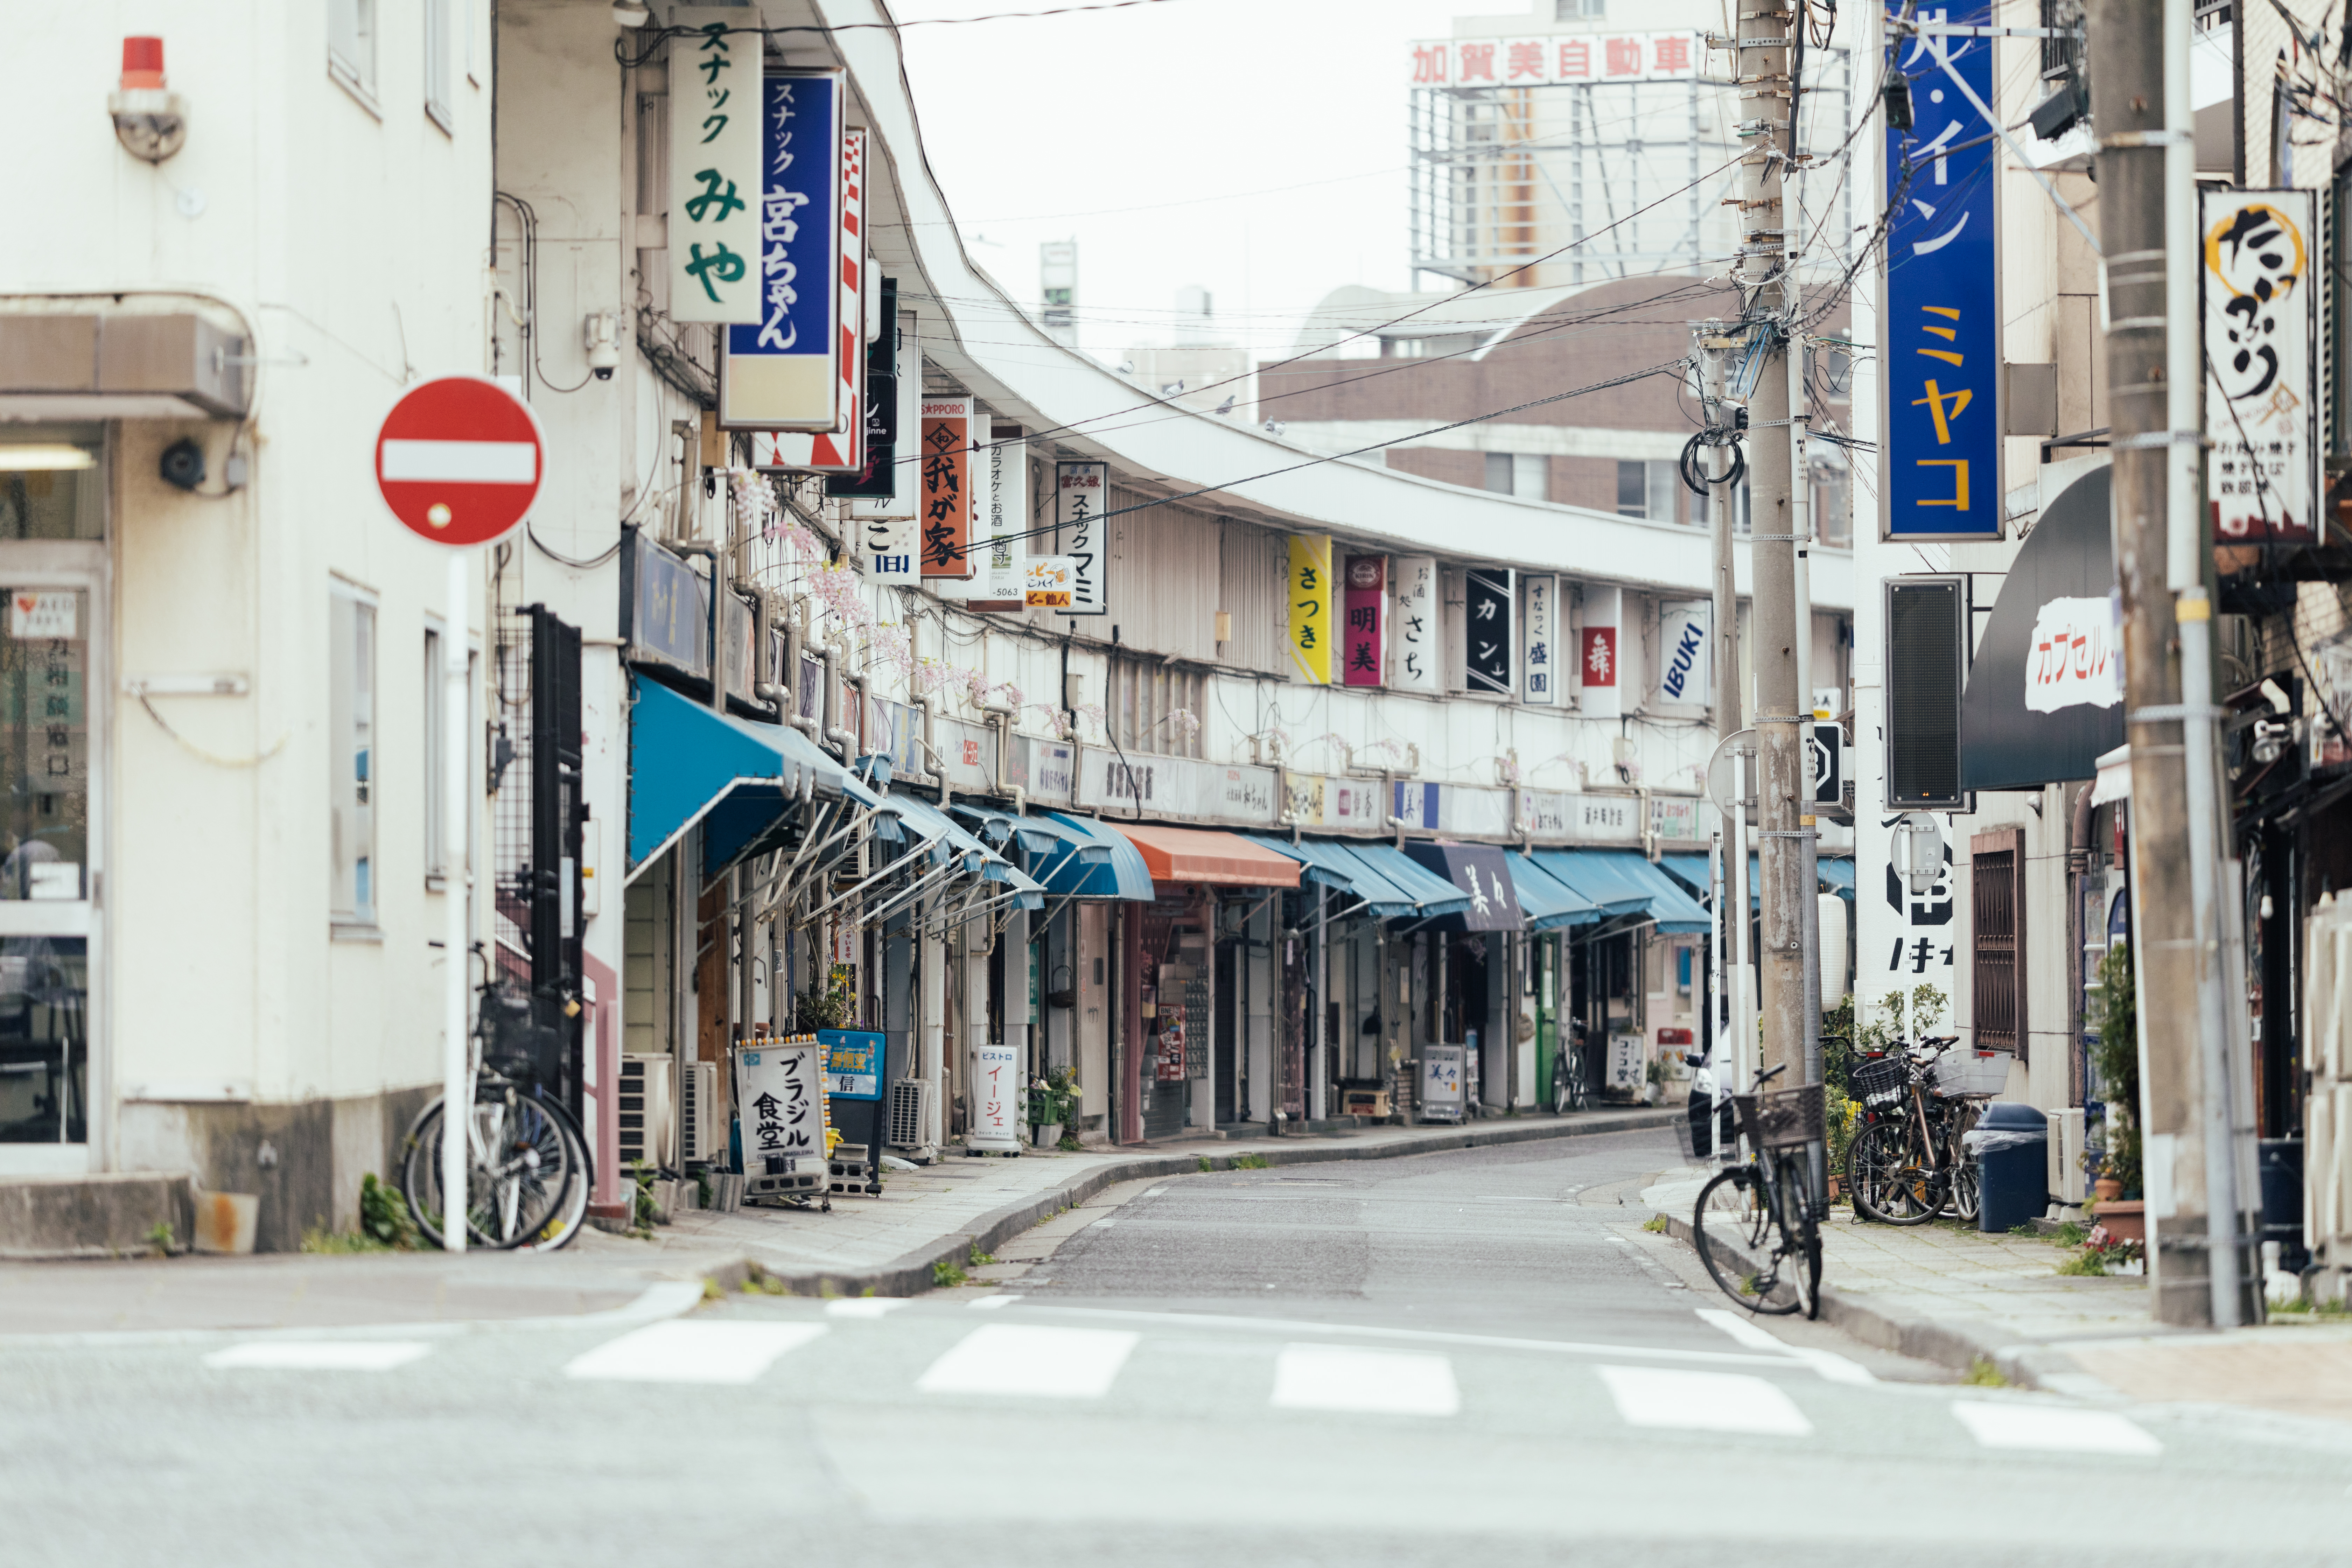
<path fill-rule="evenodd" d="M 903 0 L 901 21 L 1051 0 Z M 924 150 L 974 259 L 1037 299 L 1077 240 L 1082 348 L 1167 341 L 1202 284 L 1272 357 L 1329 289 L 1404 289 L 1406 42 L 1526 0 L 1164 0 L 908 28 Z"/>

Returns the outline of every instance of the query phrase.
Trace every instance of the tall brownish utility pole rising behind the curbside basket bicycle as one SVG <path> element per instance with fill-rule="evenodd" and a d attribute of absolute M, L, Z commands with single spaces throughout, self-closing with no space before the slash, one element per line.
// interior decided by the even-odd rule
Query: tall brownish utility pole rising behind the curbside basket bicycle
<path fill-rule="evenodd" d="M 1755 599 L 1757 672 L 1757 858 L 1762 882 L 1762 1018 L 1764 1067 L 1788 1067 L 1780 1088 L 1804 1081 L 1804 877 L 1799 797 L 1809 797 L 1804 722 L 1809 703 L 1797 691 L 1797 515 L 1788 440 L 1788 329 L 1783 306 L 1797 266 L 1797 219 L 1783 202 L 1788 125 L 1795 113 L 1790 78 L 1792 9 L 1762 0 L 1738 12 L 1740 127 L 1740 263 L 1738 284 L 1755 360 L 1740 376 L 1748 402 L 1748 475 L 1755 496 L 1750 569 Z"/>

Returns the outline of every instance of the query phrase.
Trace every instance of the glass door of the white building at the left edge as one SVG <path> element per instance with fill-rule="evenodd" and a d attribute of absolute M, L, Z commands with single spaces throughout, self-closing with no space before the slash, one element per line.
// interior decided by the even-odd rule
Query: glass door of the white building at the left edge
<path fill-rule="evenodd" d="M 87 1164 L 94 592 L 0 564 L 0 1171 Z"/>

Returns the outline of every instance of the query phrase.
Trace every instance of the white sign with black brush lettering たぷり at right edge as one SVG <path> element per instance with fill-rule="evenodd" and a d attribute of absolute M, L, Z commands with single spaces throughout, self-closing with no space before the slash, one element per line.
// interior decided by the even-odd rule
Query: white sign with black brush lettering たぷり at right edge
<path fill-rule="evenodd" d="M 2197 214 L 2213 543 L 2310 543 L 2321 494 L 2319 193 L 2204 186 Z"/>

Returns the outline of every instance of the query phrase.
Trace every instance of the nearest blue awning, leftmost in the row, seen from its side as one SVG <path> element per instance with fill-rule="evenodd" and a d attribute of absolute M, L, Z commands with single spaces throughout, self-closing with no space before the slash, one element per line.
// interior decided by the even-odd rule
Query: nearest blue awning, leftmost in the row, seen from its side
<path fill-rule="evenodd" d="M 713 712 L 668 686 L 630 677 L 628 865 L 703 825 L 703 870 L 757 851 L 793 816 L 802 792 L 877 797 L 814 741 L 786 724 Z"/>

